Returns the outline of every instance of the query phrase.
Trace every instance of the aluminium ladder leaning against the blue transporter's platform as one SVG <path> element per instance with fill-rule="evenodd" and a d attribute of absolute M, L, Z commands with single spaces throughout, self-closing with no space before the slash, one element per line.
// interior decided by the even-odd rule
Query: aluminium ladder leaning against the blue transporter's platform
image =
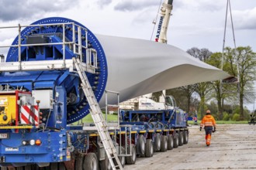
<path fill-rule="evenodd" d="M 110 138 L 109 131 L 107 130 L 107 124 L 102 116 L 102 110 L 99 107 L 99 104 L 96 100 L 95 94 L 92 91 L 92 87 L 88 81 L 88 78 L 85 74 L 85 71 L 83 69 L 83 66 L 81 66 L 80 59 L 73 57 L 74 66 L 76 67 L 76 70 L 78 71 L 78 74 L 81 79 L 81 87 L 85 93 L 85 97 L 88 100 L 88 104 L 90 105 L 92 119 L 95 122 L 95 127 L 97 128 L 99 132 L 99 136 L 102 140 L 102 144 L 105 148 L 106 155 L 109 158 L 109 163 L 113 170 L 115 169 L 123 169 L 123 166 L 121 165 L 121 162 L 119 161 L 116 148 L 114 147 L 112 143 L 112 139 Z M 115 165 L 114 161 L 117 163 Z"/>

